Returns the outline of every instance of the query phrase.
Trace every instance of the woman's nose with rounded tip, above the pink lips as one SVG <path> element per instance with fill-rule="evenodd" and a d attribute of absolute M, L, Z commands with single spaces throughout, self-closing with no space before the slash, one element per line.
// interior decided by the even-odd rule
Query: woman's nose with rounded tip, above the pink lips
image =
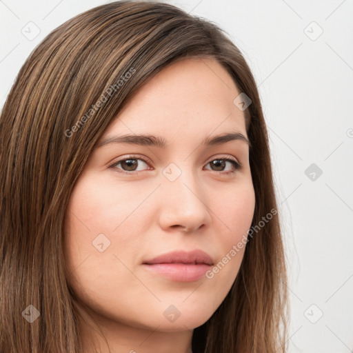
<path fill-rule="evenodd" d="M 159 224 L 163 230 L 195 232 L 211 223 L 206 190 L 192 172 L 183 172 L 174 181 L 164 179 Z"/>

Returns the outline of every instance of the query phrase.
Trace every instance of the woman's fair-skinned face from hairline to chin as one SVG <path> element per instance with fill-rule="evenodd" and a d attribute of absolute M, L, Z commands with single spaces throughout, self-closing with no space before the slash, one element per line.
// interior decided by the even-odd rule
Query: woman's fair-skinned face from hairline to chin
<path fill-rule="evenodd" d="M 68 281 L 98 321 L 192 330 L 225 299 L 254 214 L 249 147 L 241 139 L 204 140 L 247 137 L 234 103 L 240 93 L 218 62 L 185 59 L 145 84 L 105 130 L 65 218 Z M 110 140 L 123 135 L 132 137 Z M 192 254 L 145 264 L 193 250 L 213 265 Z"/>

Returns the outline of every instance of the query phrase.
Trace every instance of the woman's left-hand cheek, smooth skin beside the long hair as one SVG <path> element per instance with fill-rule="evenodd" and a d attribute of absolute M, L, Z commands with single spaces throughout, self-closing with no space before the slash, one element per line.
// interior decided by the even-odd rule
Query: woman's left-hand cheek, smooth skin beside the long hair
<path fill-rule="evenodd" d="M 150 224 L 143 201 L 151 190 L 153 185 L 145 190 L 125 185 L 117 188 L 94 173 L 81 175 L 65 214 L 64 253 L 69 274 L 73 272 L 89 287 L 97 285 L 93 281 L 96 274 L 104 283 L 121 268 L 126 272 L 118 259 L 128 264 L 139 253 L 141 237 Z"/>

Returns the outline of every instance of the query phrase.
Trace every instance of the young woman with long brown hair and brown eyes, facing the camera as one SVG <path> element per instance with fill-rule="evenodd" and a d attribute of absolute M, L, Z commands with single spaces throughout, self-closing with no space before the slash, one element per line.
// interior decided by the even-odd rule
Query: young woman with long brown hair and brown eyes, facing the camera
<path fill-rule="evenodd" d="M 70 19 L 0 118 L 1 352 L 285 352 L 268 135 L 241 52 L 157 2 Z"/>

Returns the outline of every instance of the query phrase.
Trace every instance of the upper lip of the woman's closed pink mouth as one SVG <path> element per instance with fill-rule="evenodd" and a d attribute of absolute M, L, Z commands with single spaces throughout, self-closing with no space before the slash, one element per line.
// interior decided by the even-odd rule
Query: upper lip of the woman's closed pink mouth
<path fill-rule="evenodd" d="M 154 263 L 206 263 L 207 265 L 213 265 L 211 256 L 202 250 L 193 250 L 190 252 L 178 250 L 168 252 L 167 254 L 162 254 L 154 259 L 146 260 L 143 263 L 149 265 Z"/>

